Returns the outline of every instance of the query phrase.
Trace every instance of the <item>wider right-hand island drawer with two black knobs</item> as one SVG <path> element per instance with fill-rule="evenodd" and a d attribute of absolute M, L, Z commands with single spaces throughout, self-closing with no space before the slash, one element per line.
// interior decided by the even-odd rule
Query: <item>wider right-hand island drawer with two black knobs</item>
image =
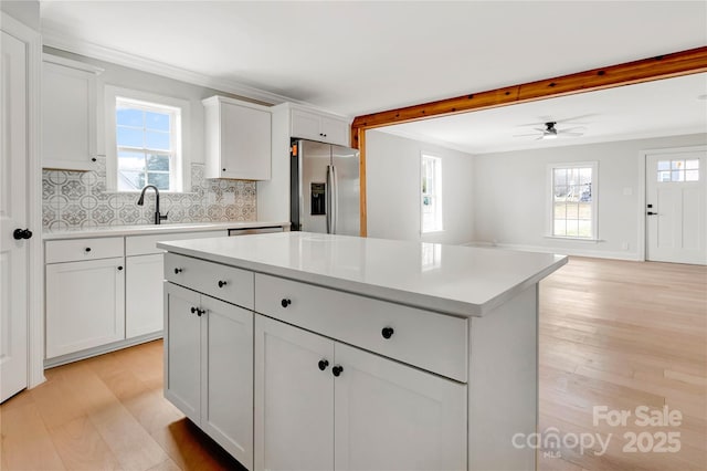
<path fill-rule="evenodd" d="M 255 311 L 466 383 L 467 320 L 255 274 Z M 391 328 L 389 338 L 383 329 Z"/>

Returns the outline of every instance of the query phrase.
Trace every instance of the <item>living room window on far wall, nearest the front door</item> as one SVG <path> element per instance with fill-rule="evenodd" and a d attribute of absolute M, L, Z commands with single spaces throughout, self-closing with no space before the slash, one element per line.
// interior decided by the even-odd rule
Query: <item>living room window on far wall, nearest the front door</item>
<path fill-rule="evenodd" d="M 550 165 L 550 234 L 597 240 L 597 163 Z"/>

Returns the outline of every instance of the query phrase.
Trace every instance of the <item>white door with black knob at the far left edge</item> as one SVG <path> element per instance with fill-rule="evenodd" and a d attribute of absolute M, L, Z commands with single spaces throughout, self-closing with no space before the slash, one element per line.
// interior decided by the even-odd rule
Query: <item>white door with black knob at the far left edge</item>
<path fill-rule="evenodd" d="M 28 385 L 27 44 L 2 31 L 0 69 L 0 401 Z"/>

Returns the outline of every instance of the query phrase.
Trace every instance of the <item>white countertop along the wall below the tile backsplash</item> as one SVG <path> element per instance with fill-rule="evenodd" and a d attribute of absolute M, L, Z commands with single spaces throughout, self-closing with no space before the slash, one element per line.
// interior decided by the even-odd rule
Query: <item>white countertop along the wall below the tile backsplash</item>
<path fill-rule="evenodd" d="M 91 229 L 64 229 L 57 231 L 45 231 L 42 233 L 43 240 L 59 239 L 81 239 L 89 237 L 120 237 L 120 236 L 147 236 L 155 233 L 173 233 L 173 232 L 200 232 L 214 231 L 219 229 L 249 229 L 249 228 L 268 228 L 275 226 L 289 227 L 287 222 L 273 221 L 250 221 L 250 222 L 190 222 L 190 223 L 165 223 L 165 224 L 144 224 L 144 226 L 108 226 Z"/>

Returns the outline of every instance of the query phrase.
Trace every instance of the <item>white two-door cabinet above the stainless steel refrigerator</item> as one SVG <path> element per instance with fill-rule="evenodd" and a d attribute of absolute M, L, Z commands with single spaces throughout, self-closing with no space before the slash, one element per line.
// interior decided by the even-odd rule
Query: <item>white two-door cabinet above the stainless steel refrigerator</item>
<path fill-rule="evenodd" d="M 291 136 L 349 147 L 349 123 L 325 113 L 291 108 Z"/>

